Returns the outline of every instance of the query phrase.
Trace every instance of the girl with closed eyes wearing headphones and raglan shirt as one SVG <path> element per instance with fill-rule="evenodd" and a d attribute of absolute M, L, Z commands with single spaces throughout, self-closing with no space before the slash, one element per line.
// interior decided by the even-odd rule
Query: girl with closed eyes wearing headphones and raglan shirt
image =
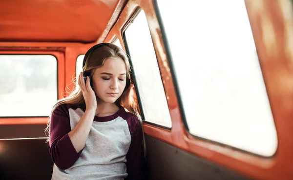
<path fill-rule="evenodd" d="M 143 128 L 129 99 L 126 53 L 98 44 L 85 54 L 83 66 L 80 89 L 51 112 L 52 180 L 145 180 Z"/>

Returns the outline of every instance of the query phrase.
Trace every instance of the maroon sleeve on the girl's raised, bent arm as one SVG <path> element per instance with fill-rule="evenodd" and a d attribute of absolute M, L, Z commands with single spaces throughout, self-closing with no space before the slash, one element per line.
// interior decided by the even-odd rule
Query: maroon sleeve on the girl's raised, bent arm
<path fill-rule="evenodd" d="M 68 169 L 79 158 L 82 150 L 77 153 L 68 132 L 71 131 L 67 106 L 60 105 L 51 114 L 50 119 L 50 155 L 52 161 L 60 169 Z"/>

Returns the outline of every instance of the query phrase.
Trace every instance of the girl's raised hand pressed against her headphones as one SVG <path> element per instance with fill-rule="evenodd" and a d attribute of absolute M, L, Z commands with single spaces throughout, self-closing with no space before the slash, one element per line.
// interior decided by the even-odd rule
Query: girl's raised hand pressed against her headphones
<path fill-rule="evenodd" d="M 78 85 L 83 91 L 84 101 L 85 101 L 85 110 L 94 110 L 97 108 L 97 99 L 94 90 L 90 86 L 89 77 L 86 77 L 86 84 L 84 82 L 84 73 L 81 72 L 79 75 Z"/>

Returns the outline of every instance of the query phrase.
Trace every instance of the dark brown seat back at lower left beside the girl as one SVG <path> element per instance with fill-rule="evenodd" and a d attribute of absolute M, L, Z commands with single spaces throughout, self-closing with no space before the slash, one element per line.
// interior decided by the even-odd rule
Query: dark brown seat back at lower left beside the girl
<path fill-rule="evenodd" d="M 0 180 L 51 180 L 53 162 L 45 141 L 0 140 Z"/>

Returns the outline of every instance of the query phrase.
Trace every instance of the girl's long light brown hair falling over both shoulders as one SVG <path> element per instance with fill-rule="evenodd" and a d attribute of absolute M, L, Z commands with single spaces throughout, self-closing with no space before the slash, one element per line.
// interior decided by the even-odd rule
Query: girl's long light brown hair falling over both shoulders
<path fill-rule="evenodd" d="M 96 68 L 102 67 L 105 63 L 105 60 L 108 58 L 112 57 L 120 57 L 123 59 L 126 65 L 126 78 L 128 81 L 130 81 L 130 65 L 129 61 L 127 58 L 126 53 L 124 52 L 123 49 L 120 47 L 116 46 L 115 44 L 112 43 L 107 43 L 101 47 L 98 47 L 94 49 L 87 57 L 85 65 L 84 65 L 84 71 L 89 72 L 91 77 L 95 71 Z M 127 84 L 127 83 L 126 83 Z M 138 108 L 138 102 L 136 98 L 134 98 L 135 91 L 134 91 L 134 86 L 133 84 L 129 83 L 130 85 L 125 87 L 125 90 L 121 94 L 121 96 L 116 100 L 115 104 L 117 106 L 122 106 L 123 108 L 126 109 L 126 111 L 134 114 L 137 119 L 139 120 L 141 126 L 142 126 L 142 131 L 143 131 L 143 122 L 142 118 L 139 114 L 139 108 Z M 60 99 L 57 101 L 55 106 L 52 108 L 49 120 L 47 122 L 47 128 L 45 129 L 45 132 L 48 133 L 48 139 L 47 142 L 49 142 L 49 129 L 50 129 L 50 117 L 52 112 L 60 105 L 62 104 L 71 104 L 75 105 L 79 108 L 85 109 L 85 102 L 84 102 L 84 96 L 82 90 L 79 88 L 76 88 L 76 83 L 75 83 L 75 88 L 73 91 L 69 94 L 69 96 Z M 144 152 L 146 154 L 146 142 L 145 142 L 145 136 L 143 133 L 143 147 L 144 147 Z"/>

